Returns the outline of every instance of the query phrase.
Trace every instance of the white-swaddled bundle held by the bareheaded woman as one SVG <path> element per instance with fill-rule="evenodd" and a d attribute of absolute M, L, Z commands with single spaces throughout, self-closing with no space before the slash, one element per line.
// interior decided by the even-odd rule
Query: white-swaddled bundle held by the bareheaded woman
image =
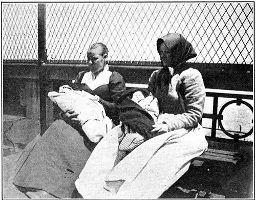
<path fill-rule="evenodd" d="M 60 87 L 60 93 L 49 92 L 48 97 L 63 112 L 74 109 L 79 113 L 82 129 L 92 142 L 99 140 L 112 128 L 111 120 L 106 116 L 103 106 L 94 99 L 94 96 L 84 91 L 73 91 L 69 87 Z M 90 120 L 90 123 L 87 123 Z"/>

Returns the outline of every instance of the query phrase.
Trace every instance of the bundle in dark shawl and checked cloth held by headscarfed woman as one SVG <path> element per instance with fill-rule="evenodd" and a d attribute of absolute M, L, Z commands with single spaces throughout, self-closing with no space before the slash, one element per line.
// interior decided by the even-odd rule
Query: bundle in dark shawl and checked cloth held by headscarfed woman
<path fill-rule="evenodd" d="M 141 88 L 127 90 L 118 99 L 117 106 L 123 132 L 119 150 L 131 152 L 154 137 L 150 131 L 157 122 L 159 109 L 157 99 L 148 91 Z"/>

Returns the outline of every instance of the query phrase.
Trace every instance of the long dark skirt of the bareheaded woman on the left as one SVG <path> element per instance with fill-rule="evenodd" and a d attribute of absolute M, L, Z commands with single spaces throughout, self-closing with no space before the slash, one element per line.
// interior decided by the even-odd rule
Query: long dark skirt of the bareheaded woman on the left
<path fill-rule="evenodd" d="M 44 190 L 71 198 L 75 181 L 95 143 L 63 120 L 56 120 L 44 135 L 24 149 L 17 163 L 14 185 L 23 192 Z"/>

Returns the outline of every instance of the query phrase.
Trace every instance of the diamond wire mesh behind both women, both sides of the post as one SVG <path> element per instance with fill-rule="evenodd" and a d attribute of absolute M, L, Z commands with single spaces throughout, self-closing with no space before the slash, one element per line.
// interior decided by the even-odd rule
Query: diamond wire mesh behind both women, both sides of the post
<path fill-rule="evenodd" d="M 36 59 L 34 8 L 3 8 L 4 59 Z M 160 61 L 156 40 L 170 32 L 191 42 L 198 56 L 190 62 L 253 62 L 253 3 L 46 4 L 49 62 L 86 62 L 89 46 L 103 42 L 111 63 L 154 65 Z"/>

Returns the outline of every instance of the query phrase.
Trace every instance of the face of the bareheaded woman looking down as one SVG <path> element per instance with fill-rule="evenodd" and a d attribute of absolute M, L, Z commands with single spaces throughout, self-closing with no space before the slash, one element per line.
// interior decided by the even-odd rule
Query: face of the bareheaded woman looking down
<path fill-rule="evenodd" d="M 108 57 L 108 55 L 103 54 L 101 55 L 101 48 L 95 48 L 95 49 L 90 49 L 87 52 L 87 60 L 88 60 L 88 65 L 90 68 L 90 71 L 92 73 L 97 73 L 101 71 L 104 66 L 105 66 L 105 59 Z"/>

